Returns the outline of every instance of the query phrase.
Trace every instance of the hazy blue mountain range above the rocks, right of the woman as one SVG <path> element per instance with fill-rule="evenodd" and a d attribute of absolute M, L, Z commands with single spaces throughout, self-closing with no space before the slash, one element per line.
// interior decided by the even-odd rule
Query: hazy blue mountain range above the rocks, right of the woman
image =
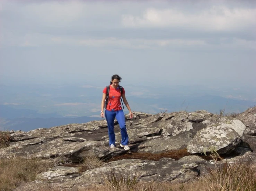
<path fill-rule="evenodd" d="M 159 113 L 162 109 L 167 110 L 167 112 L 206 110 L 212 113 L 219 113 L 221 109 L 225 109 L 226 113 L 241 113 L 256 105 L 255 101 L 223 98 L 207 94 L 203 96 L 159 96 L 155 99 L 129 97 L 128 101 L 132 110 L 153 114 Z"/>

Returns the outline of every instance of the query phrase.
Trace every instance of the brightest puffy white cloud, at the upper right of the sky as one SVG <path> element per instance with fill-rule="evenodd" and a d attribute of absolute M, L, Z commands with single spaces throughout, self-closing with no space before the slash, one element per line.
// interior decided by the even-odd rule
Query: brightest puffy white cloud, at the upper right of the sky
<path fill-rule="evenodd" d="M 207 31 L 244 30 L 256 26 L 256 9 L 213 6 L 199 12 L 189 13 L 177 9 L 148 8 L 141 16 L 125 14 L 124 27 L 181 27 Z M 255 29 L 254 29 L 255 30 Z"/>

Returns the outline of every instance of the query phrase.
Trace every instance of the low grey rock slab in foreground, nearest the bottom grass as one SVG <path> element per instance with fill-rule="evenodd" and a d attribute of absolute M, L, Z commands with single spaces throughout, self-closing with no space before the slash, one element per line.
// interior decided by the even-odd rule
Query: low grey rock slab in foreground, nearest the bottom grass
<path fill-rule="evenodd" d="M 198 173 L 200 173 L 197 169 L 198 164 L 204 162 L 205 160 L 202 160 L 200 157 L 193 156 L 178 161 L 170 158 L 162 158 L 159 161 L 123 159 L 121 161 L 106 163 L 100 168 L 87 170 L 83 172 L 80 177 L 76 177 L 78 175 L 77 172 L 71 168 L 69 170 L 74 172 L 74 174 L 64 178 L 67 176 L 67 172 L 65 173 L 62 169 L 54 168 L 48 172 L 39 174 L 37 178 L 48 179 L 48 181 L 55 183 L 62 181 L 62 188 L 64 189 L 74 188 L 78 185 L 78 182 L 81 187 L 102 184 L 102 182 L 106 181 L 107 174 L 111 171 L 115 172 L 116 176 L 118 176 L 118 174 L 126 175 L 126 173 L 128 173 L 131 178 L 136 173 L 138 180 L 141 182 L 152 180 L 186 182 L 198 176 Z"/>

